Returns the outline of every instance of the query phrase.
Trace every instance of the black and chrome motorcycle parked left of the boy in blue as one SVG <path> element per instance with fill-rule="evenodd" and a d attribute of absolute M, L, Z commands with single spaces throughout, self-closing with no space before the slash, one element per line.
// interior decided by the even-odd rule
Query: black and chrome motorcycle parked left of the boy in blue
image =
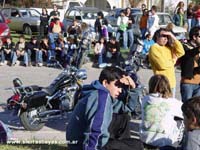
<path fill-rule="evenodd" d="M 7 108 L 14 109 L 25 129 L 38 131 L 50 118 L 61 117 L 75 105 L 75 93 L 87 79 L 86 70 L 68 67 L 48 87 L 23 86 L 13 80 L 14 95 L 7 100 Z"/>

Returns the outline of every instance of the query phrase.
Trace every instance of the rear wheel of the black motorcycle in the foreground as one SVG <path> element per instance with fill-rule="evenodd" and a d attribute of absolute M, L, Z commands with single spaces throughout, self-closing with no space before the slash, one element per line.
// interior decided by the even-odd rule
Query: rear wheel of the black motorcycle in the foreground
<path fill-rule="evenodd" d="M 45 110 L 45 106 L 40 106 L 38 108 L 22 111 L 19 117 L 23 127 L 28 131 L 38 131 L 42 129 L 45 123 L 41 122 L 38 113 Z"/>

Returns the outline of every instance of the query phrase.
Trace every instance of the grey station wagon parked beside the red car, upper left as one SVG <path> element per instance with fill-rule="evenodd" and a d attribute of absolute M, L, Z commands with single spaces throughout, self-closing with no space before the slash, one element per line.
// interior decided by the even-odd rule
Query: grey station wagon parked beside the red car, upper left
<path fill-rule="evenodd" d="M 6 19 L 10 19 L 10 30 L 24 32 L 31 35 L 39 31 L 40 13 L 29 8 L 2 8 L 2 14 Z"/>

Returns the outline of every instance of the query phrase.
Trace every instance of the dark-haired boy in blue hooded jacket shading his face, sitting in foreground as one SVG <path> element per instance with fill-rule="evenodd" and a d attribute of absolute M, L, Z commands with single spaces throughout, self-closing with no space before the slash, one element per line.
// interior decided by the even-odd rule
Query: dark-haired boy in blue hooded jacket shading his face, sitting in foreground
<path fill-rule="evenodd" d="M 99 80 L 83 87 L 82 98 L 67 126 L 69 150 L 142 149 L 139 141 L 131 141 L 128 130 L 129 117 L 126 113 L 133 109 L 134 101 L 125 104 L 117 100 L 126 85 L 135 88 L 134 81 L 121 69 L 106 67 Z M 116 117 L 121 111 L 126 113 Z"/>

